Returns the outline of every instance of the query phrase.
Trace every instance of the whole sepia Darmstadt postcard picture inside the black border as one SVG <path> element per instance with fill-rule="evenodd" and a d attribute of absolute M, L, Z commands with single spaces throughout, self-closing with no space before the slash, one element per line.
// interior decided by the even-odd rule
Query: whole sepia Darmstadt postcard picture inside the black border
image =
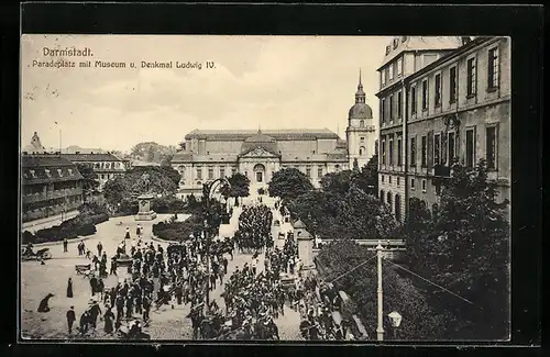
<path fill-rule="evenodd" d="M 19 338 L 509 341 L 510 49 L 23 34 Z"/>

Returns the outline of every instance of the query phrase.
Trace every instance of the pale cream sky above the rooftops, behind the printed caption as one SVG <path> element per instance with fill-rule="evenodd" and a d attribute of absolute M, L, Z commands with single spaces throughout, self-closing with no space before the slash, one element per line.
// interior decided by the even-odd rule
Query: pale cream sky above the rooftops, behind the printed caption
<path fill-rule="evenodd" d="M 392 37 L 23 35 L 21 145 L 128 152 L 140 142 L 177 145 L 195 129 L 323 129 L 345 137 L 361 68 L 377 125 L 376 69 Z M 46 48 L 90 48 L 58 57 Z M 37 63 L 75 62 L 75 67 Z M 79 62 L 91 59 L 91 68 Z M 96 60 L 127 68 L 95 68 Z M 141 62 L 200 63 L 141 68 Z M 206 68 L 213 62 L 213 68 Z M 135 68 L 129 64 L 135 63 Z"/>

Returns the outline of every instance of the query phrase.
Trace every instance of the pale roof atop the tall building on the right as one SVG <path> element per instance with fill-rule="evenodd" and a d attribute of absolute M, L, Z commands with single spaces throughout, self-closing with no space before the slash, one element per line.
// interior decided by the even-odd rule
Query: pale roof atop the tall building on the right
<path fill-rule="evenodd" d="M 394 43 L 397 45 L 394 48 Z M 389 52 L 384 54 L 384 59 L 381 67 L 392 62 L 395 57 L 404 52 L 410 51 L 440 51 L 455 49 L 462 46 L 462 37 L 460 36 L 397 36 L 388 44 Z"/>

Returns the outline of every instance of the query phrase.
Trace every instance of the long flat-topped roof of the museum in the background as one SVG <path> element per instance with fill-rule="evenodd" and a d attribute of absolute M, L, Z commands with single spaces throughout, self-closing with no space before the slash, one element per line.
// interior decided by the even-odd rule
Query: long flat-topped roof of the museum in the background
<path fill-rule="evenodd" d="M 328 129 L 283 129 L 283 130 L 262 130 L 266 136 L 277 141 L 292 140 L 317 140 L 317 138 L 338 138 L 338 135 Z M 257 134 L 254 130 L 194 130 L 185 135 L 185 140 L 201 138 L 211 141 L 245 141 Z"/>

